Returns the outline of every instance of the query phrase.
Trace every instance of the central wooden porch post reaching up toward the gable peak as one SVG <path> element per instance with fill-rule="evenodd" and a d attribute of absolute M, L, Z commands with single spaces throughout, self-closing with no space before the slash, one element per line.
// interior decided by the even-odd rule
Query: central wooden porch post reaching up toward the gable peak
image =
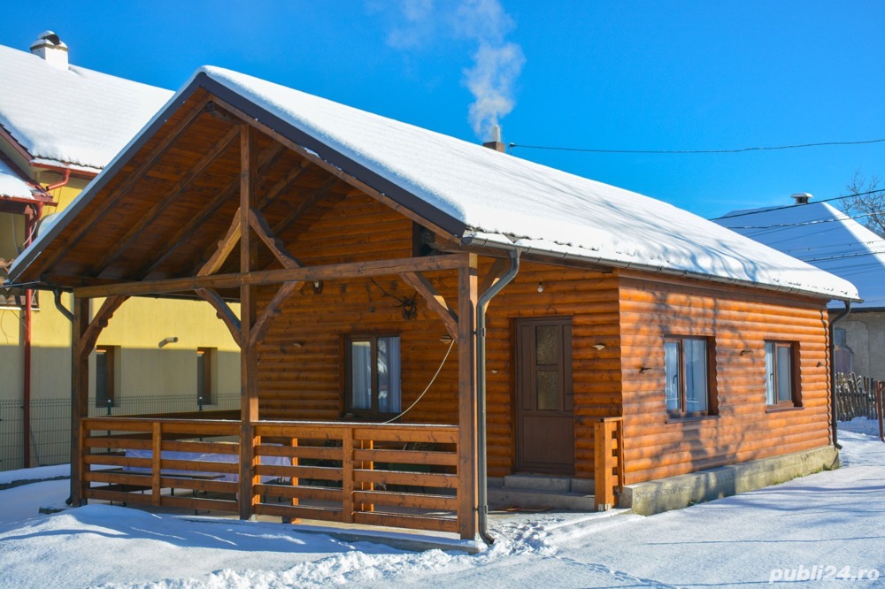
<path fill-rule="evenodd" d="M 254 199 L 258 175 L 258 146 L 255 129 L 243 125 L 240 134 L 240 272 L 257 266 L 258 243 L 251 237 L 250 205 Z M 249 519 L 258 496 L 253 492 L 255 479 L 255 444 L 252 424 L 258 421 L 258 356 L 250 343 L 255 323 L 257 287 L 240 287 L 240 519 Z"/>

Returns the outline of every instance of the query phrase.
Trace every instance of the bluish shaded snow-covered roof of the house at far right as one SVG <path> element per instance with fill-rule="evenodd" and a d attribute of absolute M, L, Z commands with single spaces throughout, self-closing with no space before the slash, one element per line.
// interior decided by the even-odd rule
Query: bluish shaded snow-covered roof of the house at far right
<path fill-rule="evenodd" d="M 885 309 L 885 240 L 829 203 L 734 210 L 716 222 L 850 280 L 864 299 L 856 309 Z"/>

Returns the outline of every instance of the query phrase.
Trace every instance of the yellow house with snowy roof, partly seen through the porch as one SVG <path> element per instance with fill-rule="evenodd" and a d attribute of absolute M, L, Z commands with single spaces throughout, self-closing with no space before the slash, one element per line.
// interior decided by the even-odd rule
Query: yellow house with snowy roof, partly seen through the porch
<path fill-rule="evenodd" d="M 49 31 L 30 53 L 0 46 L 0 279 L 53 213 L 69 207 L 172 96 L 69 65 L 67 57 L 65 43 Z M 70 295 L 60 302 L 70 308 Z M 71 322 L 51 292 L 27 297 L 24 289 L 0 289 L 0 305 L 0 470 L 66 462 Z M 207 389 L 236 394 L 236 344 L 212 312 L 189 302 L 145 301 L 118 318 L 91 356 L 100 374 L 90 389 L 101 406 L 94 410 L 125 411 L 124 391 L 150 396 L 148 375 L 162 375 L 169 396 L 154 395 L 156 410 L 185 398 L 182 408 L 196 407 L 197 365 L 213 359 Z M 178 341 L 159 348 L 166 337 Z M 206 362 L 201 354 L 212 357 Z"/>

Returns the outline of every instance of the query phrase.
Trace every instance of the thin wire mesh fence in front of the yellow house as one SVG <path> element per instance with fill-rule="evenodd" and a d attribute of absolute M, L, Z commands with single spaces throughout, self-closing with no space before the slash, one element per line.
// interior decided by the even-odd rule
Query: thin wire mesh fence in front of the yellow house
<path fill-rule="evenodd" d="M 213 395 L 212 404 L 192 396 L 118 398 L 112 405 L 96 405 L 89 399 L 89 417 L 151 415 L 188 411 L 240 409 L 240 394 Z M 0 470 L 24 468 L 25 407 L 19 401 L 0 400 Z M 39 399 L 31 402 L 31 466 L 50 466 L 71 460 L 70 399 Z"/>

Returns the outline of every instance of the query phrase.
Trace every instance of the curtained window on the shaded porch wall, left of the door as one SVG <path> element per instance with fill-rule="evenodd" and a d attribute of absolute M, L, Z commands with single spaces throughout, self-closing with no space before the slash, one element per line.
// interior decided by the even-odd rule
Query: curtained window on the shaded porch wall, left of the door
<path fill-rule="evenodd" d="M 378 417 L 400 411 L 399 336 L 345 338 L 345 413 Z"/>

